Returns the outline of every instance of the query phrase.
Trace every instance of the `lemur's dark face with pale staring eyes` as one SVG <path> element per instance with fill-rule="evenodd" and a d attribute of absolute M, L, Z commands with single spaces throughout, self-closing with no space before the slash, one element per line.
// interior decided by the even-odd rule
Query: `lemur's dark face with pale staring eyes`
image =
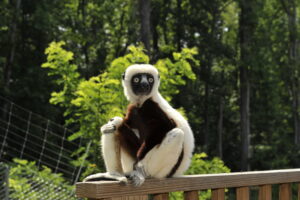
<path fill-rule="evenodd" d="M 131 88 L 135 95 L 150 94 L 154 84 L 154 77 L 148 73 L 135 74 L 131 78 Z"/>

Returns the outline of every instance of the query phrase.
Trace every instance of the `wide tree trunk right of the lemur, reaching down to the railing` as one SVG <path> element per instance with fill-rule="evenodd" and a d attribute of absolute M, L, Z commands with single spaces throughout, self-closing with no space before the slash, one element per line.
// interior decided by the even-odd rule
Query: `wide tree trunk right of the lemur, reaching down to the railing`
<path fill-rule="evenodd" d="M 251 40 L 254 33 L 254 1 L 240 0 L 239 37 L 240 37 L 240 120 L 241 120 L 241 170 L 250 169 L 250 80 Z"/>

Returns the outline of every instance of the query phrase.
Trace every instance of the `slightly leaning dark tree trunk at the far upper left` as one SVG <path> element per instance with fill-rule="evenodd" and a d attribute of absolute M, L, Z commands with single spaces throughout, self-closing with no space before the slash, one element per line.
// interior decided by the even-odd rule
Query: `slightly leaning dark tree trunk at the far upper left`
<path fill-rule="evenodd" d="M 6 63 L 4 66 L 4 77 L 3 77 L 3 87 L 4 91 L 8 92 L 9 86 L 10 86 L 10 79 L 13 69 L 13 64 L 15 60 L 15 51 L 16 51 L 16 40 L 17 40 L 17 24 L 18 24 L 18 17 L 20 13 L 20 6 L 21 6 L 21 0 L 16 1 L 16 7 L 15 7 L 15 15 L 13 17 L 13 21 L 11 23 L 10 28 L 10 51 L 6 58 Z"/>

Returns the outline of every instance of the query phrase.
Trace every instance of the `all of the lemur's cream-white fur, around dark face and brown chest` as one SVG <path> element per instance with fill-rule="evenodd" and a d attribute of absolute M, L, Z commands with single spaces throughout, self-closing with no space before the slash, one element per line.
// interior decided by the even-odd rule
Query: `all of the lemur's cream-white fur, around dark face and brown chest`
<path fill-rule="evenodd" d="M 149 73 L 154 77 L 152 91 L 147 96 L 137 96 L 131 89 L 131 78 L 137 73 Z M 122 84 L 125 96 L 131 103 L 142 106 L 145 100 L 151 97 L 152 100 L 158 103 L 160 108 L 169 116 L 169 118 L 173 119 L 177 125 L 176 128 L 166 134 L 166 137 L 163 139 L 161 144 L 156 145 L 141 161 L 137 163 L 137 166 L 143 168 L 145 173 L 144 175 L 147 177 L 164 178 L 170 173 L 170 170 L 172 170 L 174 165 L 177 163 L 183 147 L 183 159 L 173 176 L 182 175 L 190 165 L 194 149 L 194 136 L 184 117 L 172 108 L 172 106 L 170 106 L 170 104 L 160 95 L 158 91 L 160 78 L 157 69 L 149 64 L 136 64 L 129 66 L 126 69 L 125 78 L 122 81 Z M 143 183 L 144 179 L 141 177 L 141 174 L 135 174 L 133 170 L 135 159 L 124 150 L 120 149 L 118 141 L 115 139 L 115 132 L 117 130 L 114 129 L 112 131 L 111 128 L 112 125 L 118 127 L 120 123 L 120 118 L 116 117 L 108 124 L 104 125 L 101 129 L 102 133 L 106 131 L 106 134 L 102 134 L 102 152 L 107 172 L 109 174 L 117 175 L 119 173 L 132 173 L 133 176 L 136 177 L 135 179 L 137 179 L 135 184 L 140 185 Z M 111 133 L 107 134 L 107 132 Z M 138 134 L 137 130 L 134 132 Z M 121 165 L 121 167 L 119 167 L 119 165 Z M 99 177 L 103 177 L 104 175 L 99 175 Z M 96 175 L 92 176 L 95 177 Z M 88 179 L 89 177 L 86 178 L 86 180 Z M 119 180 L 118 177 L 116 179 Z"/>

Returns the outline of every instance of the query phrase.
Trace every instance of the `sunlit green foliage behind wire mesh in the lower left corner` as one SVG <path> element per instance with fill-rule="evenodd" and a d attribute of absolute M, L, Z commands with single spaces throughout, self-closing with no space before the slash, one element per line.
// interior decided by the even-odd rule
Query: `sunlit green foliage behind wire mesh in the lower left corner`
<path fill-rule="evenodd" d="M 55 196 L 66 196 L 74 192 L 74 186 L 68 183 L 62 174 L 53 173 L 46 166 L 39 169 L 35 162 L 14 159 L 9 171 L 10 199 L 39 200 L 52 199 Z M 45 192 L 46 191 L 46 192 Z"/>

